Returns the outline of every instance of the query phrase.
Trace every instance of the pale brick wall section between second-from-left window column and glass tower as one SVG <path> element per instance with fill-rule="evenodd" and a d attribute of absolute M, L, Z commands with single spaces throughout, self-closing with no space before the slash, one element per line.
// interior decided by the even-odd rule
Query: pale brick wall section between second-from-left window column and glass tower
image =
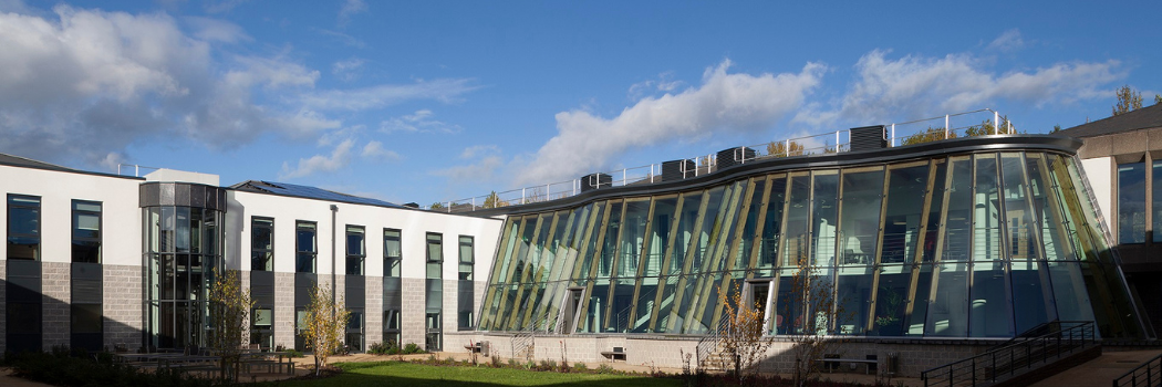
<path fill-rule="evenodd" d="M 124 344 L 136 350 L 142 343 L 142 267 L 101 265 L 105 345 Z"/>

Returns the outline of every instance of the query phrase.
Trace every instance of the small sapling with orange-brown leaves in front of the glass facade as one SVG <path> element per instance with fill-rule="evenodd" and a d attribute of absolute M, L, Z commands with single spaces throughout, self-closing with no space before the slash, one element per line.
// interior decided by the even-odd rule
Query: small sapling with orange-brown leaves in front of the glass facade
<path fill-rule="evenodd" d="M 729 293 L 729 294 L 727 294 Z M 718 292 L 718 302 L 723 306 L 723 317 L 726 320 L 725 332 L 722 332 L 722 350 L 734 360 L 734 375 L 741 385 L 774 343 L 774 336 L 767 336 L 763 327 L 762 303 L 767 300 L 755 300 L 747 304 L 738 282 L 730 292 Z"/>

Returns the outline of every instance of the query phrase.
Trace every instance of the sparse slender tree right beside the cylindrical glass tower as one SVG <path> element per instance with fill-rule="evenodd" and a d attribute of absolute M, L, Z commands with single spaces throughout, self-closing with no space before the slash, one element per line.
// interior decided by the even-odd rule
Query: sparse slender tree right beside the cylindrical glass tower
<path fill-rule="evenodd" d="M 209 346 L 222 358 L 218 364 L 221 374 L 225 378 L 249 342 L 250 309 L 254 307 L 254 301 L 250 299 L 250 289 L 242 287 L 237 271 L 220 272 L 217 267 L 214 268 L 209 301 L 210 323 L 214 327 L 209 335 Z"/>

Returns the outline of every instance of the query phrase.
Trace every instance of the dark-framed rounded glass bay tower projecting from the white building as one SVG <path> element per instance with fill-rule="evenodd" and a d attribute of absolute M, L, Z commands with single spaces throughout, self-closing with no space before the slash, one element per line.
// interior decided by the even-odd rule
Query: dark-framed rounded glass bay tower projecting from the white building
<path fill-rule="evenodd" d="M 207 296 L 222 267 L 223 212 L 180 206 L 143 212 L 145 343 L 151 349 L 206 345 Z"/>

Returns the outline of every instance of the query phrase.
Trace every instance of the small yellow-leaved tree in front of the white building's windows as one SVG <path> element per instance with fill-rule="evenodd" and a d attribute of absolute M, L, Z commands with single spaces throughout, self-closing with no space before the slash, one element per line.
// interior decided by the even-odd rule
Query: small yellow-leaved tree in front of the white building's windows
<path fill-rule="evenodd" d="M 343 334 L 351 316 L 351 311 L 339 308 L 343 303 L 343 300 L 335 300 L 330 288 L 317 282 L 310 292 L 310 303 L 303 313 L 302 338 L 307 350 L 315 352 L 315 375 L 327 366 L 327 358 L 343 345 Z"/>

